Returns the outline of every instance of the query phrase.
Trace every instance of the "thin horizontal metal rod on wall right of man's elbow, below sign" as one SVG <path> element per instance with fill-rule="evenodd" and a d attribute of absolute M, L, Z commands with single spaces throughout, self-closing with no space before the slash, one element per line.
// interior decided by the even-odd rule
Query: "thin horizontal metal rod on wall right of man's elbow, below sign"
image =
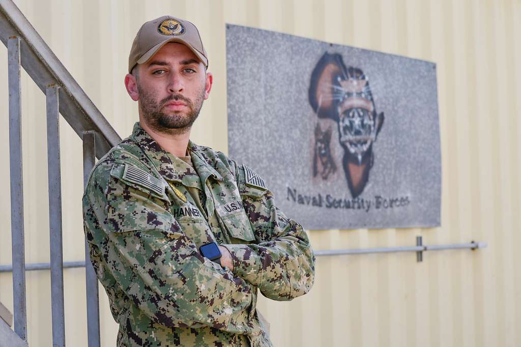
<path fill-rule="evenodd" d="M 383 248 L 362 248 L 350 250 L 324 250 L 315 251 L 316 256 L 331 256 L 331 255 L 352 255 L 352 254 L 371 254 L 371 253 L 397 253 L 397 252 L 416 252 L 416 261 L 423 262 L 423 252 L 426 251 L 442 251 L 442 250 L 476 250 L 479 248 L 486 248 L 486 242 L 470 243 L 455 243 L 455 244 L 438 244 L 438 245 L 424 245 L 421 236 L 416 237 L 416 246 L 402 246 L 402 247 L 383 247 Z"/>

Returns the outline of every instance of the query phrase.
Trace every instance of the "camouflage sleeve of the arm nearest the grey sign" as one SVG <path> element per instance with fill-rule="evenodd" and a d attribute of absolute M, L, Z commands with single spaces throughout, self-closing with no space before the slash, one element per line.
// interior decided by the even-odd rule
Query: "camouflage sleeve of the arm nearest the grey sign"
<path fill-rule="evenodd" d="M 233 273 L 269 299 L 288 301 L 307 293 L 315 279 L 315 256 L 304 228 L 275 206 L 264 181 L 245 167 L 235 175 L 255 244 L 226 244 Z"/>

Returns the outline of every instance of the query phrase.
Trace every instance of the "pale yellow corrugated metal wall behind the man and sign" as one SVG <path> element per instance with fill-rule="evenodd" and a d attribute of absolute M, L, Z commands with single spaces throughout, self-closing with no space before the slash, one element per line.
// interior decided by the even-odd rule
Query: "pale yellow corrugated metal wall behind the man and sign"
<path fill-rule="evenodd" d="M 215 85 L 193 140 L 227 152 L 225 23 L 434 61 L 442 148 L 442 227 L 314 230 L 316 250 L 488 242 L 440 251 L 317 259 L 313 290 L 290 303 L 261 300 L 277 346 L 521 345 L 521 2 L 519 0 L 67 1 L 17 5 L 118 133 L 137 120 L 123 86 L 140 25 L 163 14 L 193 21 Z M 0 263 L 10 264 L 7 49 L 0 48 Z M 254 73 L 262 73 L 255 71 Z M 23 167 L 27 262 L 48 262 L 45 99 L 25 75 Z M 81 142 L 61 122 L 65 261 L 83 258 Z M 48 271 L 27 274 L 29 343 L 51 345 Z M 86 345 L 83 269 L 65 270 L 69 346 Z M 101 289 L 102 345 L 116 326 Z M 10 274 L 0 301 L 12 309 Z"/>

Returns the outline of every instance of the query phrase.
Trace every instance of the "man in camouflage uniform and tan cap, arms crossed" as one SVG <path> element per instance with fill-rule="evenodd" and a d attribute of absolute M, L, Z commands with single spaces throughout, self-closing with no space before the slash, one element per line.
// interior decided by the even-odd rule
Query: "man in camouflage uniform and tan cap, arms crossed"
<path fill-rule="evenodd" d="M 189 141 L 212 87 L 207 66 L 192 23 L 143 24 L 125 78 L 140 121 L 85 188 L 85 237 L 118 346 L 271 346 L 257 290 L 287 301 L 313 285 L 308 237 L 264 181 Z M 221 258 L 203 256 L 203 245 Z"/>

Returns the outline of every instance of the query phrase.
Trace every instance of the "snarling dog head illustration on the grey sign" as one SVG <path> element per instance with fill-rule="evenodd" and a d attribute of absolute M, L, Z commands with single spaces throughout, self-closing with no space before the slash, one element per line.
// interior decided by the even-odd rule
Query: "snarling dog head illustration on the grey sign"
<path fill-rule="evenodd" d="M 360 195 L 373 166 L 373 143 L 383 125 L 383 112 L 377 113 L 369 81 L 361 69 L 346 67 L 340 54 L 325 53 L 311 75 L 309 104 L 318 118 L 332 119 L 338 125 L 339 142 L 344 155 L 342 166 L 352 197 Z M 318 163 L 321 177 L 328 179 L 336 171 L 330 154 L 331 129 L 315 129 L 313 176 Z M 327 143 L 326 143 L 327 142 Z"/>

